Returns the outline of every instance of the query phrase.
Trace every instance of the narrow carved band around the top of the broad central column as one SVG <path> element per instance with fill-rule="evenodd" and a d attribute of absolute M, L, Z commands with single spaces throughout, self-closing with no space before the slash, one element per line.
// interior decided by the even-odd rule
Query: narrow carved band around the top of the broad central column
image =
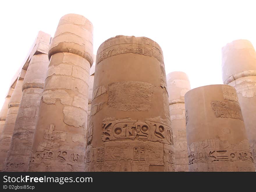
<path fill-rule="evenodd" d="M 126 53 L 135 53 L 150 57 L 157 58 L 158 61 L 163 63 L 163 54 L 162 50 L 157 47 L 147 46 L 147 45 L 140 45 L 140 44 L 118 44 L 111 46 L 104 51 L 97 54 L 97 64 L 103 61 L 106 58 L 119 55 L 119 54 L 126 54 Z"/>

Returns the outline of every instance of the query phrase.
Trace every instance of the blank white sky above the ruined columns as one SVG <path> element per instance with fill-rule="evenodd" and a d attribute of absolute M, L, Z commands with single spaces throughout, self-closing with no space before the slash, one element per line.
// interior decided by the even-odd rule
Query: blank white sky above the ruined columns
<path fill-rule="evenodd" d="M 191 88 L 222 84 L 221 48 L 236 39 L 256 45 L 256 1 L 1 1 L 0 107 L 38 31 L 54 36 L 68 13 L 94 26 L 94 54 L 116 35 L 145 36 L 163 50 L 166 74 L 183 71 Z"/>

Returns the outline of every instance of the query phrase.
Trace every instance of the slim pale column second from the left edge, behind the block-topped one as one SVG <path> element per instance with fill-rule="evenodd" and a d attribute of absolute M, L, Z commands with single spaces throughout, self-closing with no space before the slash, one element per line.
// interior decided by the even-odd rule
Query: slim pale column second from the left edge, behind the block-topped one
<path fill-rule="evenodd" d="M 25 74 L 26 70 L 22 69 L 19 77 L 17 78 L 17 83 L 15 85 L 13 94 L 8 104 L 8 113 L 6 116 L 5 125 L 3 127 L 3 132 L 0 137 L 0 171 L 2 171 L 4 168 L 7 151 L 10 148 L 10 142 L 13 136 L 15 120 L 19 110 L 19 103 L 22 97 L 22 84 Z"/>

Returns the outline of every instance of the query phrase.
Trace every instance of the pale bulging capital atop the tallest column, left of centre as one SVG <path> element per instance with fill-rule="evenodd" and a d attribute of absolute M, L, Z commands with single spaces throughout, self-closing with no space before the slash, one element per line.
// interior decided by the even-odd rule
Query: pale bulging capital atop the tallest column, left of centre
<path fill-rule="evenodd" d="M 49 58 L 62 52 L 79 55 L 93 65 L 93 25 L 82 15 L 61 17 L 51 42 Z"/>

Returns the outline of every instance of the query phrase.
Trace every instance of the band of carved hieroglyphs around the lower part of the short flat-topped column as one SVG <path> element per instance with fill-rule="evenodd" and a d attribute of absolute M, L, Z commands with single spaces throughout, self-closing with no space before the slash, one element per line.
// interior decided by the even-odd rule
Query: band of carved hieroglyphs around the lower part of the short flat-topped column
<path fill-rule="evenodd" d="M 248 140 L 243 140 L 238 144 L 230 144 L 228 141 L 208 139 L 191 143 L 188 150 L 189 165 L 215 161 L 254 162 Z"/>

